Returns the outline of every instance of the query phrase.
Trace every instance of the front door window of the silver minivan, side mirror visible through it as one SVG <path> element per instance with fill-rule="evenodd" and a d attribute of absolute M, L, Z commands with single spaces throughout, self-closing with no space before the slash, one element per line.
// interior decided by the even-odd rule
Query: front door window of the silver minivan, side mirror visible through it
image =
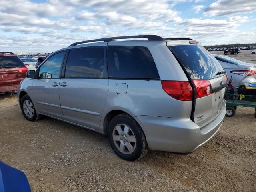
<path fill-rule="evenodd" d="M 64 52 L 51 56 L 39 70 L 39 78 L 59 78 Z"/>

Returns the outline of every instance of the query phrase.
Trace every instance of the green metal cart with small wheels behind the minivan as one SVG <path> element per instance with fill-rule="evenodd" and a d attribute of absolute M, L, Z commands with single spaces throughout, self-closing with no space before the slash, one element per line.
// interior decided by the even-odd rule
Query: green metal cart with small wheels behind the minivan
<path fill-rule="evenodd" d="M 226 116 L 232 117 L 236 113 L 236 107 L 254 107 L 256 118 L 256 96 L 254 95 L 242 95 L 242 94 L 230 94 L 226 93 L 224 98 L 226 99 Z"/>

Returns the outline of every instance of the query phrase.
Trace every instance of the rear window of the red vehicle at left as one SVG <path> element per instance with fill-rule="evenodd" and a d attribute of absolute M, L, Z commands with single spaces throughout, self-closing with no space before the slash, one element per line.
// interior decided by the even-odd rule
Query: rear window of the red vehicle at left
<path fill-rule="evenodd" d="M 0 69 L 25 67 L 17 56 L 0 56 Z"/>

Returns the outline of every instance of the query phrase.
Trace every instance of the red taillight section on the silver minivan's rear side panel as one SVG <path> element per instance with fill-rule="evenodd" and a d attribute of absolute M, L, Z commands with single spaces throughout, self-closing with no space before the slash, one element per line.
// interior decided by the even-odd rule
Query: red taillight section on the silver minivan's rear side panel
<path fill-rule="evenodd" d="M 163 90 L 181 101 L 191 101 L 193 90 L 188 81 L 161 81 Z"/>

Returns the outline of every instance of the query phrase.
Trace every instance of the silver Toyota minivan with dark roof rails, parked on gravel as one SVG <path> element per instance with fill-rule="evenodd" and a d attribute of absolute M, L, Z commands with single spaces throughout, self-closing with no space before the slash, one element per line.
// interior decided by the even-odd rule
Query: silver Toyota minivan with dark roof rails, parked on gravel
<path fill-rule="evenodd" d="M 27 72 L 18 101 L 27 120 L 45 115 L 100 132 L 134 161 L 148 148 L 190 153 L 208 142 L 226 113 L 226 83 L 198 41 L 123 36 L 53 52 Z"/>

